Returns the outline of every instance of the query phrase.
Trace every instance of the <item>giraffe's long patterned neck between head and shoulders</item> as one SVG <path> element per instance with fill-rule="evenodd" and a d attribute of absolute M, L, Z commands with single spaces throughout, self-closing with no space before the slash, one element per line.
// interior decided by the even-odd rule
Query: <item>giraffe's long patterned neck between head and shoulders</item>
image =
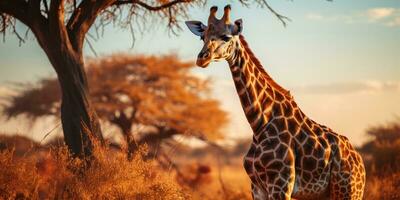
<path fill-rule="evenodd" d="M 258 134 L 275 115 L 287 111 L 281 104 L 290 105 L 292 98 L 263 69 L 243 36 L 235 45 L 227 61 L 246 118 L 254 134 Z"/>

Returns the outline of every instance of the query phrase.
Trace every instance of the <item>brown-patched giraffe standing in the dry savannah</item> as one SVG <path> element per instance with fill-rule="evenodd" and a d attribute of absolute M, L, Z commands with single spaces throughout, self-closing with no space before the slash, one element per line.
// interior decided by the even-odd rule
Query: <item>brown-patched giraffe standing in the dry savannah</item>
<path fill-rule="evenodd" d="M 204 42 L 196 64 L 226 60 L 253 130 L 244 168 L 253 199 L 361 200 L 362 158 L 349 140 L 307 117 L 290 92 L 264 70 L 241 35 L 241 19 L 231 23 L 230 5 L 221 19 L 211 7 L 207 26 L 186 21 Z"/>

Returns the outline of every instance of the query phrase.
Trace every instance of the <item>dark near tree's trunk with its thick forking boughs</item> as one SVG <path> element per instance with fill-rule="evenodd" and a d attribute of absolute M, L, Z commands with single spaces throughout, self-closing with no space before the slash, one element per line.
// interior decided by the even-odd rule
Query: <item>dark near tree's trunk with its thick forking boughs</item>
<path fill-rule="evenodd" d="M 62 93 L 61 122 L 70 152 L 75 157 L 91 157 L 95 143 L 103 143 L 103 138 L 88 96 L 83 42 L 97 15 L 114 1 L 83 1 L 83 9 L 74 9 L 72 16 L 69 11 L 65 13 L 64 0 L 45 1 L 46 17 L 41 1 L 0 2 L 0 13 L 9 12 L 29 27 L 57 73 Z M 74 20 L 66 23 L 68 15 Z"/>

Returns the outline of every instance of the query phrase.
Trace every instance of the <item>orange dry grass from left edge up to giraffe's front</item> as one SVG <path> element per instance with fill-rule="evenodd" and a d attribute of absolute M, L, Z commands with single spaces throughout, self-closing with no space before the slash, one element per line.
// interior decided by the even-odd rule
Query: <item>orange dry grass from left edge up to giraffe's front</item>
<path fill-rule="evenodd" d="M 237 166 L 223 166 L 221 171 L 213 166 L 189 187 L 179 185 L 174 173 L 166 175 L 154 163 L 143 161 L 140 154 L 127 161 L 124 153 L 97 148 L 95 156 L 96 161 L 82 171 L 84 163 L 71 159 L 65 147 L 23 157 L 4 150 L 0 199 L 251 199 L 247 177 Z"/>

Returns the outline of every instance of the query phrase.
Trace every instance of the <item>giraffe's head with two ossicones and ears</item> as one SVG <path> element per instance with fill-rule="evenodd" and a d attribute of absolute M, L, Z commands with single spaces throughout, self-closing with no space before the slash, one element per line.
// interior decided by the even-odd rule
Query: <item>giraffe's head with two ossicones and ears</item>
<path fill-rule="evenodd" d="M 239 34 L 242 32 L 242 20 L 234 23 L 230 21 L 231 6 L 226 5 L 224 15 L 221 19 L 216 18 L 218 7 L 210 9 L 207 26 L 200 21 L 186 21 L 186 25 L 192 33 L 204 42 L 204 46 L 197 56 L 196 64 L 200 67 L 207 67 L 212 61 L 220 61 L 228 58 L 233 52 L 231 47 L 239 41 Z"/>

